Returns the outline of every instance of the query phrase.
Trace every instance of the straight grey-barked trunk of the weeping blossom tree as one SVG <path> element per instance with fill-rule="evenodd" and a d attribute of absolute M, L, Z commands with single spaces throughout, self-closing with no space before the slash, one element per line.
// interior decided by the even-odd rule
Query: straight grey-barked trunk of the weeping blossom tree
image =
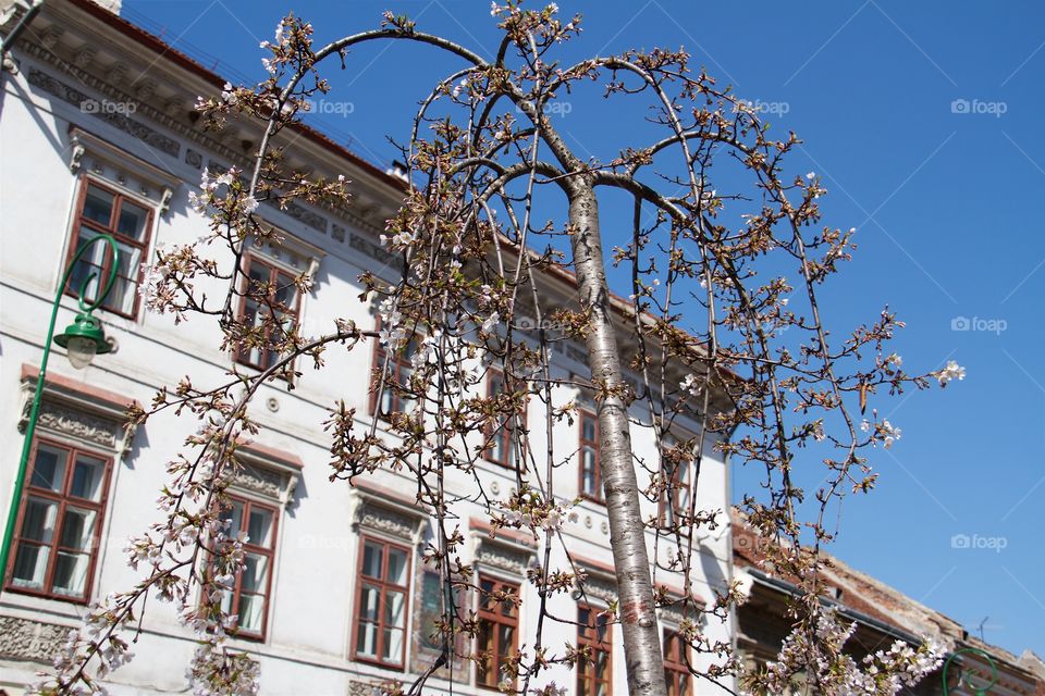
<path fill-rule="evenodd" d="M 617 575 L 624 656 L 631 696 L 665 696 L 664 660 L 653 606 L 653 582 L 646 548 L 646 525 L 639 510 L 639 486 L 631 457 L 628 403 L 620 353 L 610 307 L 610 290 L 602 259 L 599 204 L 590 182 L 578 177 L 569 185 L 569 222 L 579 300 L 590 310 L 587 337 L 588 364 L 593 384 L 611 394 L 597 400 L 599 462 L 610 518 L 610 546 Z"/>

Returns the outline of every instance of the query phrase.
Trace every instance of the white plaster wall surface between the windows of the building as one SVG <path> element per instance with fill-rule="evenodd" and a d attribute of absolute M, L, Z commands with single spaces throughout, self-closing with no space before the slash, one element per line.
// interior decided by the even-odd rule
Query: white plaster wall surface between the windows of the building
<path fill-rule="evenodd" d="M 20 373 L 23 364 L 36 365 L 40 360 L 46 314 L 69 239 L 69 221 L 76 191 L 75 177 L 67 166 L 70 123 L 79 124 L 183 178 L 185 183 L 175 190 L 171 212 L 156 221 L 153 245 L 188 241 L 206 231 L 206 223 L 186 206 L 187 194 L 198 182 L 198 171 L 172 158 L 144 151 L 142 144 L 127 134 L 36 92 L 25 80 L 28 64 L 23 63 L 23 72 L 17 77 L 4 79 L 5 94 L 0 113 L 0 456 L 3 462 L 0 512 L 4 515 L 22 445 L 22 437 L 15 428 Z M 373 270 L 374 261 L 346 246 L 331 248 L 325 237 L 290 217 L 275 213 L 271 217 L 302 239 L 328 248 L 316 288 L 303 306 L 306 332 L 319 333 L 329 328 L 334 318 L 354 319 L 362 326 L 370 325 L 372 320 L 368 309 L 356 299 L 359 288 L 355 278 L 364 269 Z M 213 296 L 222 293 L 220 286 L 211 290 Z M 63 306 L 71 307 L 72 302 L 64 301 Z M 147 403 L 156 388 L 172 385 L 186 374 L 200 385 L 217 384 L 231 364 L 230 357 L 217 349 L 220 334 L 211 323 L 194 319 L 176 325 L 171 316 L 147 312 L 142 312 L 136 321 L 108 314 L 102 318 L 107 332 L 119 340 L 119 352 L 99 358 L 94 366 L 76 372 L 65 362 L 61 351 L 56 350 L 50 364 L 52 375 L 78 380 L 85 385 Z M 59 331 L 71 319 L 72 312 L 63 309 L 58 321 Z M 292 451 L 305 463 L 294 500 L 280 520 L 267 641 L 265 644 L 238 644 L 256 652 L 261 660 L 263 694 L 345 694 L 349 681 L 360 675 L 396 676 L 354 664 L 347 659 L 358 545 L 349 515 L 349 486 L 344 482 L 328 482 L 328 440 L 322 431 L 324 409 L 337 399 L 356 406 L 360 418 L 365 418 L 371 351 L 365 346 L 353 351 L 332 346 L 324 359 L 328 366 L 322 373 L 314 373 L 309 365 L 302 365 L 305 374 L 293 391 L 280 386 L 263 387 L 259 406 L 255 409 L 257 420 L 263 425 L 258 442 Z M 564 364 L 557 370 L 565 374 L 567 370 L 580 372 L 581 366 Z M 269 397 L 278 400 L 278 412 L 269 412 L 260 406 Z M 556 388 L 556 402 L 565 403 L 573 398 L 571 390 Z M 635 414 L 642 417 L 640 407 L 636 407 Z M 540 423 L 542 419 L 543 414 L 533 406 L 530 423 Z M 122 548 L 130 535 L 143 532 L 150 522 L 160 519 L 155 499 L 165 481 L 164 463 L 180 451 L 184 437 L 195 427 L 190 419 L 161 414 L 138 431 L 126 462 L 115 464 L 100 562 L 96 568 L 95 598 L 130 587 L 138 577 L 138 573 L 126 566 Z M 570 426 L 565 422 L 555 425 L 558 457 L 576 449 L 576 424 Z M 536 451 L 543 451 L 540 428 L 533 427 L 532 433 Z M 655 457 L 655 443 L 649 428 L 636 427 L 632 438 L 637 452 L 647 458 Z M 514 478 L 507 472 L 492 464 L 480 464 L 479 476 L 487 487 L 496 481 L 502 498 L 514 485 Z M 556 495 L 564 499 L 575 497 L 576 470 L 561 469 L 556 476 Z M 397 490 L 413 488 L 409 481 L 394 474 L 382 473 L 378 478 Z M 470 490 L 475 484 L 468 476 L 455 473 L 448 485 Z M 725 467 L 718 456 L 709 450 L 700 481 L 700 500 L 704 507 L 725 510 L 727 495 Z M 457 512 L 465 521 L 481 515 L 478 507 Z M 580 520 L 565 529 L 569 550 L 611 562 L 608 535 L 602 531 L 604 510 L 597 504 L 583 502 L 578 512 Z M 644 506 L 646 517 L 655 513 L 655 506 Z M 652 534 L 650 538 L 653 538 Z M 726 575 L 728 535 L 723 533 L 702 539 L 700 550 L 701 558 L 694 562 L 692 577 L 697 591 L 711 599 Z M 416 555 L 414 562 L 417 562 Z M 553 564 L 564 567 L 565 563 L 563 550 L 556 547 Z M 679 580 L 664 574 L 659 580 L 681 585 Z M 525 582 L 522 586 L 520 639 L 532 645 L 534 622 L 526 608 L 536 606 L 537 596 L 531 586 Z M 576 618 L 575 602 L 566 595 L 554 597 L 550 606 L 556 614 Z M 11 593 L 2 595 L 0 608 L 4 612 L 69 624 L 75 624 L 84 612 L 82 607 L 66 602 Z M 172 608 L 151 600 L 145 627 L 145 634 L 134 648 L 138 658 L 113 675 L 113 694 L 157 694 L 177 692 L 186 686 L 183 671 L 193 645 Z M 729 635 L 729 626 L 712 624 L 708 631 L 714 638 L 726 639 Z M 549 624 L 545 644 L 562 645 L 564 641 L 576 642 L 574 629 Z M 614 671 L 618 693 L 623 693 L 626 684 L 620 642 L 619 629 L 615 627 Z M 16 685 L 30 681 L 36 669 L 35 664 L 0 660 L 0 684 Z M 551 679 L 573 687 L 573 676 L 562 668 L 551 670 L 541 682 Z M 438 680 L 432 682 L 432 693 L 440 693 L 441 687 L 445 684 Z M 455 691 L 471 693 L 474 689 L 455 686 Z M 701 686 L 697 693 L 712 692 Z"/>

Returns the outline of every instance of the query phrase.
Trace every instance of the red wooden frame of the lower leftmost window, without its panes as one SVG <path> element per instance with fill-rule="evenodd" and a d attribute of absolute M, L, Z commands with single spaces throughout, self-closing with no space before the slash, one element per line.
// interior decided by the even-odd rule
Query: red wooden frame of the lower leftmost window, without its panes
<path fill-rule="evenodd" d="M 56 493 L 50 488 L 41 488 L 39 486 L 33 485 L 33 475 L 36 471 L 37 456 L 39 452 L 40 445 L 51 447 L 53 449 L 64 450 L 66 452 L 65 459 L 65 471 L 62 474 L 62 489 L 61 493 Z M 104 465 L 104 473 L 102 474 L 102 480 L 100 483 L 100 492 L 97 501 L 87 500 L 85 498 L 77 498 L 70 494 L 70 487 L 73 483 L 73 474 L 76 469 L 76 458 L 77 456 L 88 457 L 90 459 L 101 460 Z M 101 527 L 104 520 L 106 507 L 109 498 L 109 480 L 112 475 L 112 457 L 100 453 L 96 450 L 86 449 L 78 447 L 76 445 L 70 445 L 67 443 L 62 443 L 59 440 L 52 440 L 45 437 L 34 438 L 32 456 L 29 458 L 32 465 L 26 471 L 26 485 L 22 494 L 22 500 L 19 501 L 19 517 L 17 524 L 15 525 L 14 537 L 11 539 L 11 555 L 8 560 L 8 568 L 4 569 L 4 589 L 9 592 L 22 593 L 27 595 L 36 595 L 38 597 L 47 597 L 49 599 L 60 599 L 62 601 L 70 601 L 73 604 L 84 605 L 87 604 L 91 597 L 91 591 L 94 588 L 94 577 L 95 577 L 95 566 L 98 562 L 98 547 L 99 539 L 101 538 Z M 33 539 L 23 538 L 23 524 L 25 522 L 25 512 L 28 506 L 29 497 L 44 498 L 48 501 L 56 502 L 58 505 L 58 512 L 56 514 L 56 524 L 54 531 L 51 535 L 50 544 L 40 544 Z M 76 508 L 88 509 L 95 513 L 95 529 L 90 538 L 90 546 L 88 550 L 88 561 L 87 561 L 87 576 L 84 581 L 84 592 L 77 597 L 74 595 L 66 595 L 62 593 L 56 593 L 53 591 L 54 585 L 54 567 L 57 564 L 58 555 L 61 550 L 82 552 L 82 549 L 76 549 L 72 547 L 62 547 L 60 544 L 62 539 L 62 532 L 65 526 L 65 509 L 70 505 L 73 505 Z M 26 587 L 24 585 L 17 585 L 14 583 L 14 566 L 19 557 L 19 548 L 22 544 L 30 544 L 34 546 L 48 546 L 50 551 L 47 559 L 47 571 L 44 574 L 44 586 L 39 589 L 34 587 Z"/>

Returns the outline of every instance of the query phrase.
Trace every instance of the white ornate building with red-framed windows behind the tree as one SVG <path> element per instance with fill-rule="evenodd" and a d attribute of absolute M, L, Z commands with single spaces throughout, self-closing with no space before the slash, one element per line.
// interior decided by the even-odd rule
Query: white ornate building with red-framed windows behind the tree
<path fill-rule="evenodd" d="M 7 33 L 21 5 L 4 0 L 0 8 Z M 217 94 L 224 80 L 88 0 L 46 4 L 15 42 L 12 58 L 17 71 L 3 75 L 0 102 L 4 517 L 46 322 L 65 264 L 77 240 L 93 231 L 114 234 L 126 260 L 106 310 L 98 312 L 119 350 L 83 371 L 73 370 L 60 349 L 51 356 L 33 469 L 19 504 L 15 548 L 0 594 L 0 688 L 13 695 L 36 681 L 35 673 L 49 664 L 67 627 L 78 624 L 91 602 L 134 584 L 138 574 L 127 567 L 122 548 L 130 535 L 160 519 L 153 501 L 165 481 L 164 463 L 195 428 L 190 419 L 164 414 L 125 435 L 123 407 L 130 400 L 148 403 L 158 388 L 184 375 L 198 384 L 218 384 L 234 360 L 263 364 L 266 357 L 221 351 L 216 327 L 197 320 L 175 325 L 169 315 L 148 313 L 135 291 L 138 264 L 156 245 L 206 232 L 206 221 L 187 204 L 202 169 L 243 163 L 254 146 L 250 132 L 225 130 L 219 138 L 196 123 L 197 96 Z M 317 174 L 349 178 L 354 212 L 262 207 L 259 213 L 286 232 L 287 243 L 279 249 L 253 248 L 251 269 L 314 273 L 315 287 L 298 304 L 297 320 L 306 333 L 333 326 L 335 318 L 372 326 L 371 309 L 356 299 L 357 277 L 365 270 L 394 277 L 377 235 L 396 209 L 401 183 L 314 132 L 302 133 L 294 157 Z M 565 295 L 567 279 L 556 282 Z M 74 298 L 66 296 L 62 308 L 59 331 L 73 318 Z M 581 346 L 566 347 L 554 359 L 557 374 L 587 374 Z M 426 629 L 439 585 L 419 560 L 431 532 L 414 502 L 416 484 L 388 472 L 357 478 L 354 487 L 328 481 L 325 409 L 344 399 L 357 408 L 360 421 L 369 422 L 372 360 L 368 346 L 331 350 L 325 372 L 305 369 L 292 391 L 263 387 L 254 411 L 263 431 L 244 450 L 246 468 L 236 484 L 251 542 L 250 576 L 241 580 L 234 597 L 241 617 L 234 643 L 260 662 L 262 694 L 372 693 L 374 682 L 411 681 L 434 657 Z M 563 402 L 575 396 L 562 394 Z M 641 419 L 641 407 L 635 408 Z M 538 413 L 531 419 L 542 420 Z M 590 438 L 591 433 L 583 424 L 581 419 L 556 426 L 560 449 L 585 446 L 585 434 Z M 640 455 L 655 461 L 651 428 L 635 427 L 632 442 Z M 717 457 L 708 455 L 698 495 L 702 507 L 727 510 L 727 473 Z M 514 474 L 493 461 L 479 475 L 502 496 L 514 485 Z M 575 488 L 556 493 L 573 498 L 581 493 L 580 480 L 574 480 Z M 569 481 L 561 480 L 560 488 Z M 520 588 L 521 610 L 496 619 L 506 624 L 499 635 L 514 646 L 532 645 L 527 607 L 536 594 L 525 570 L 536 559 L 536 544 L 505 533 L 491 538 L 478 506 L 457 512 L 469 522 L 468 552 L 480 579 Z M 656 505 L 644 512 L 657 514 Z M 723 522 L 717 536 L 701 539 L 700 559 L 693 563 L 692 580 L 705 600 L 713 599 L 730 573 L 728 518 Z M 591 574 L 588 599 L 602 608 L 614 596 L 604 507 L 586 499 L 565 534 L 574 560 Z M 668 546 L 660 544 L 660 552 L 668 554 Z M 388 560 L 377 569 L 379 551 Z M 561 549 L 553 562 L 565 566 Z M 664 571 L 657 580 L 668 588 L 681 586 Z M 402 610 L 370 622 L 368 607 L 378 599 Z M 585 610 L 565 595 L 553 601 L 558 616 Z M 671 631 L 678 617 L 665 611 L 662 619 Z M 709 637 L 722 641 L 729 639 L 730 629 L 716 620 L 705 626 Z M 545 636 L 548 645 L 578 643 L 574 626 L 553 624 L 550 630 L 557 635 Z M 607 686 L 625 693 L 619 631 L 614 626 L 610 634 L 612 680 L 590 679 L 588 693 Z M 136 658 L 110 676 L 110 693 L 185 692 L 184 668 L 193 649 L 192 633 L 172 608 L 150 600 L 144 633 L 133 647 Z M 679 657 L 676 651 L 675 662 Z M 452 673 L 443 670 L 432 679 L 427 693 L 446 692 L 447 676 L 457 693 L 483 692 L 483 675 L 471 663 L 458 662 Z M 564 669 L 544 678 L 578 688 L 577 675 Z M 709 684 L 688 691 L 718 693 Z"/>

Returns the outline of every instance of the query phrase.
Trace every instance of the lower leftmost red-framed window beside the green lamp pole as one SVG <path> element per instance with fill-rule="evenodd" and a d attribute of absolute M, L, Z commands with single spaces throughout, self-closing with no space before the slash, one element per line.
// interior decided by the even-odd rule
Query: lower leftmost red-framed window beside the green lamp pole
<path fill-rule="evenodd" d="M 37 440 L 8 587 L 86 601 L 98 560 L 110 460 Z"/>

